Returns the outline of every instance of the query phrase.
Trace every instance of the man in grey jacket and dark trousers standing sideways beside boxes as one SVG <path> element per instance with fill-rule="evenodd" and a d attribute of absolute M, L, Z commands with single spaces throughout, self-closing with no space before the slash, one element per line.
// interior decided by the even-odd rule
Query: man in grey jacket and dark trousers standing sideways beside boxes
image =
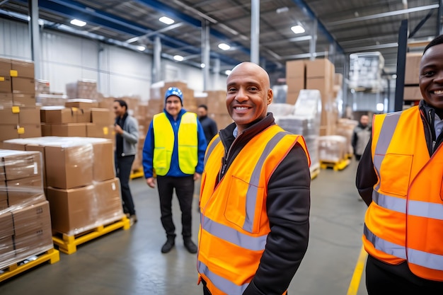
<path fill-rule="evenodd" d="M 120 179 L 123 211 L 130 216 L 130 223 L 137 222 L 134 200 L 130 190 L 130 175 L 137 144 L 139 142 L 139 127 L 137 120 L 127 113 L 125 100 L 114 101 L 115 113 L 115 171 Z"/>

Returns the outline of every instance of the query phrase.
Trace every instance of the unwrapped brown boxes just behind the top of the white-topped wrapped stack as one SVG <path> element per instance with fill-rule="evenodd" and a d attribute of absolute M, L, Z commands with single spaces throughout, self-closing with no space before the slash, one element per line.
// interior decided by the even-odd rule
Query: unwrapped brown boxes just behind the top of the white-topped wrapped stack
<path fill-rule="evenodd" d="M 113 139 L 113 113 L 95 100 L 67 100 L 65 106 L 42 107 L 40 114 L 43 136 Z"/>

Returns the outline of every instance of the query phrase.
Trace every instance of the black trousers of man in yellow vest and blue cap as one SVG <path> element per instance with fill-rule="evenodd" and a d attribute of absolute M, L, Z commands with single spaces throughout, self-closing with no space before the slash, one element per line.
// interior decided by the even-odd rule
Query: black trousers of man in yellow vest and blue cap
<path fill-rule="evenodd" d="M 192 197 L 194 195 L 194 176 L 171 177 L 157 176 L 159 187 L 161 224 L 166 231 L 166 236 L 176 235 L 176 226 L 172 220 L 172 196 L 176 195 L 181 210 L 181 223 L 183 238 L 192 236 Z"/>

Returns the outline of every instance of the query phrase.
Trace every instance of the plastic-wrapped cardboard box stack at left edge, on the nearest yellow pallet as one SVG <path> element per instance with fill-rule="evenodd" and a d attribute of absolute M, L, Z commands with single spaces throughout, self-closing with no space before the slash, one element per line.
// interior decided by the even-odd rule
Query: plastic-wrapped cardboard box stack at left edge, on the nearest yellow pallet
<path fill-rule="evenodd" d="M 0 149 L 0 270 L 52 248 L 40 153 Z"/>

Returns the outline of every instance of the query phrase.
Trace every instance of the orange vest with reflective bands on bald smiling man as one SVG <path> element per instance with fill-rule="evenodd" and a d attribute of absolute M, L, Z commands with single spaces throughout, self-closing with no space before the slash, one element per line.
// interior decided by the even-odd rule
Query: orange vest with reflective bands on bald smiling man
<path fill-rule="evenodd" d="M 212 295 L 241 295 L 258 269 L 270 232 L 266 213 L 267 182 L 303 137 L 272 125 L 243 147 L 222 180 L 224 146 L 218 137 L 205 155 L 200 192 L 197 270 Z"/>

